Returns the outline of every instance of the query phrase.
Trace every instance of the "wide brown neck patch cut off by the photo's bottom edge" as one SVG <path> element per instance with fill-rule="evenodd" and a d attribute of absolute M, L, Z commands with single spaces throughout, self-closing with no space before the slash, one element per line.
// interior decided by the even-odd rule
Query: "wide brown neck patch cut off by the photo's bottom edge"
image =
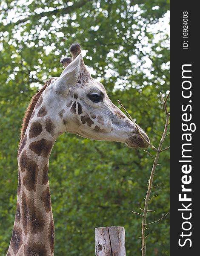
<path fill-rule="evenodd" d="M 25 244 L 24 256 L 48 256 L 45 248 L 45 244 Z"/>

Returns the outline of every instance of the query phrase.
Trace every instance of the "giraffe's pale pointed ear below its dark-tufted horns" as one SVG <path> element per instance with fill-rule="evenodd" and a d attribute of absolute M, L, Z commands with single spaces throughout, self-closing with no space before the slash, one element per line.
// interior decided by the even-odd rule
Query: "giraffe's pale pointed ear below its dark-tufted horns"
<path fill-rule="evenodd" d="M 62 72 L 60 77 L 57 79 L 56 91 L 57 93 L 63 94 L 68 91 L 69 87 L 74 86 L 80 74 L 81 67 L 81 53 L 72 61 Z"/>

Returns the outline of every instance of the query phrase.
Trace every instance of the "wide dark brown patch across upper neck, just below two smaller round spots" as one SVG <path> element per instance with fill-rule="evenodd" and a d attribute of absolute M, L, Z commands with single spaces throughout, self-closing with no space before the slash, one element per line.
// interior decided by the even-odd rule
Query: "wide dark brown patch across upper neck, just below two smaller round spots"
<path fill-rule="evenodd" d="M 52 142 L 50 140 L 42 139 L 39 141 L 32 142 L 29 148 L 34 151 L 38 156 L 47 157 L 52 148 Z"/>

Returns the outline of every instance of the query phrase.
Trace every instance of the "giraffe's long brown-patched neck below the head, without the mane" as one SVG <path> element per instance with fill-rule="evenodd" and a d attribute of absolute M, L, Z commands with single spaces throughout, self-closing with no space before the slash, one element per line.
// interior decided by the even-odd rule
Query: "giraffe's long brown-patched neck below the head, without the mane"
<path fill-rule="evenodd" d="M 30 120 L 18 151 L 17 209 L 7 256 L 54 255 L 48 166 L 57 136 L 46 120 Z"/>

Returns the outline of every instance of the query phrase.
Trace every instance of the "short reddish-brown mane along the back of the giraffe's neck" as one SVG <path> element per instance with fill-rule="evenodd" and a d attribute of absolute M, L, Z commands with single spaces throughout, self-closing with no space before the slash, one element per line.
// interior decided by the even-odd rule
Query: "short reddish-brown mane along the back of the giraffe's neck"
<path fill-rule="evenodd" d="M 31 115 L 33 113 L 34 107 L 37 104 L 38 99 L 40 98 L 41 94 L 43 93 L 43 91 L 46 89 L 47 87 L 47 82 L 45 82 L 44 86 L 32 97 L 28 108 L 26 109 L 26 112 L 24 114 L 23 117 L 23 121 L 22 121 L 22 127 L 21 127 L 21 133 L 20 133 L 20 144 L 22 143 L 23 137 L 26 133 L 26 128 L 29 124 L 29 120 L 31 118 Z"/>

